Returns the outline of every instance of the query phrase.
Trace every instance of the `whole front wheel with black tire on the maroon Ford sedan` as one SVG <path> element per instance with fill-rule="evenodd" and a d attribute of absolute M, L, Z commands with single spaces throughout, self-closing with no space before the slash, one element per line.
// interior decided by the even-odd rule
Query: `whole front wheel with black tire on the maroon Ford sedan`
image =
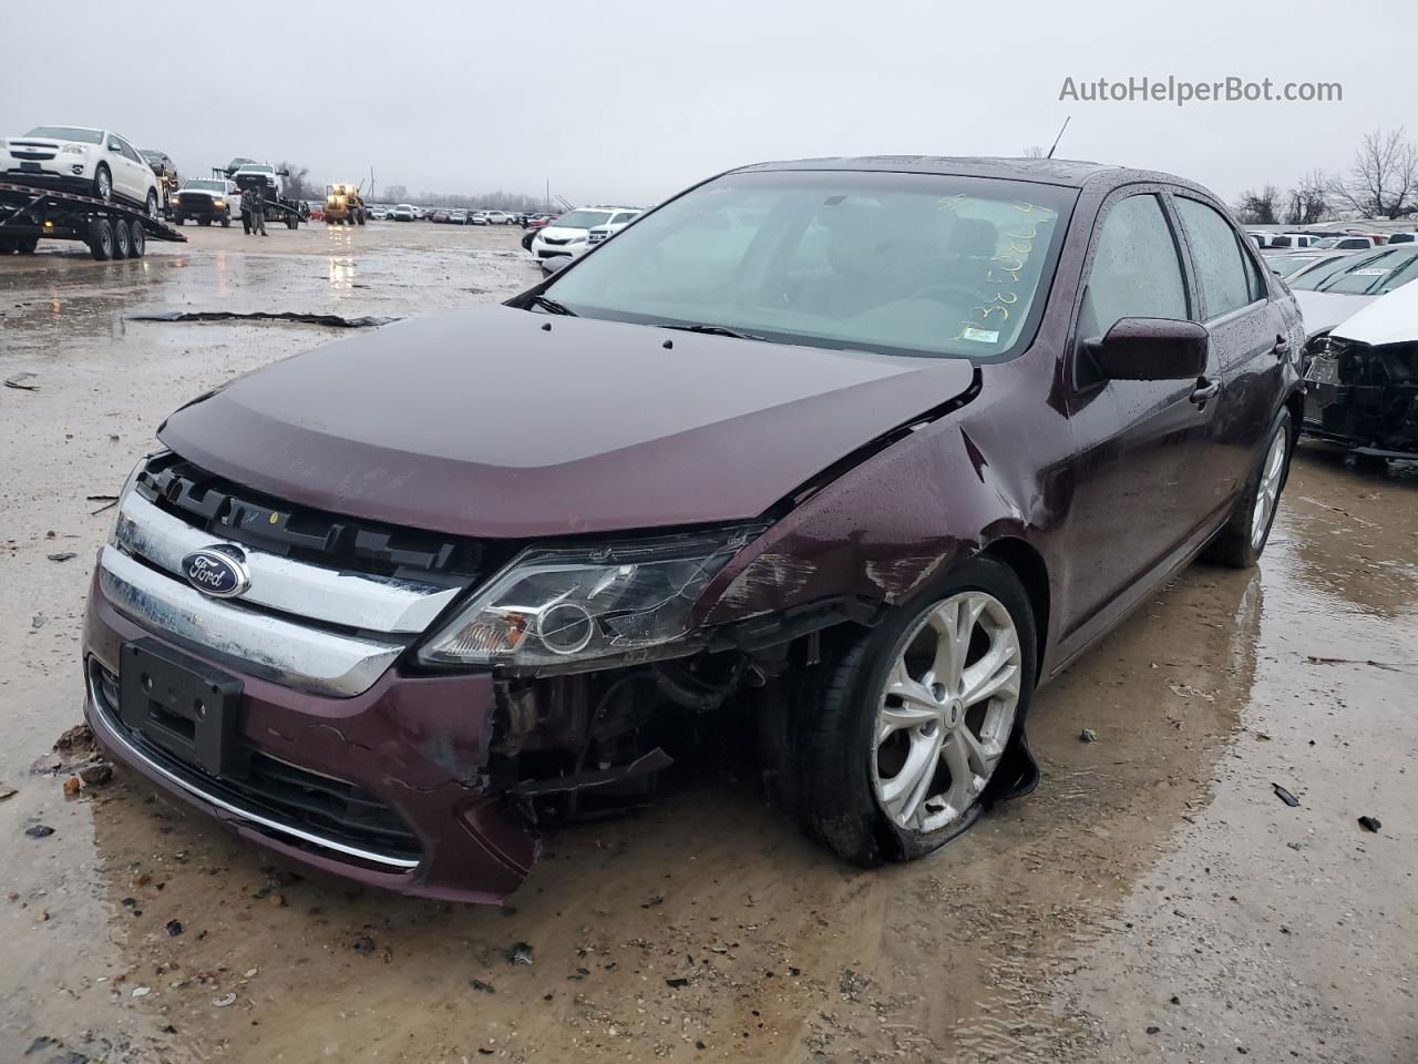
<path fill-rule="evenodd" d="M 976 604 L 983 609 L 978 620 L 968 617 Z M 998 671 L 987 671 L 1004 680 L 1000 691 L 976 702 L 947 699 L 954 681 L 933 680 L 937 668 L 949 672 L 949 663 L 937 663 L 953 645 L 936 624 L 949 630 L 961 619 L 971 633 L 966 665 L 997 655 Z M 893 610 L 835 660 L 824 660 L 790 728 L 801 736 L 788 755 L 790 800 L 807 833 L 839 857 L 875 867 L 923 857 L 964 831 L 1008 776 L 1001 766 L 1012 760 L 1011 745 L 1022 741 L 1035 647 L 1034 610 L 1020 579 L 1000 562 L 976 558 Z M 888 692 L 898 664 L 905 674 L 893 685 L 919 702 Z M 902 724 L 908 718 L 920 724 Z M 878 742 L 882 726 L 889 732 Z M 964 741 L 964 732 L 974 742 Z"/>

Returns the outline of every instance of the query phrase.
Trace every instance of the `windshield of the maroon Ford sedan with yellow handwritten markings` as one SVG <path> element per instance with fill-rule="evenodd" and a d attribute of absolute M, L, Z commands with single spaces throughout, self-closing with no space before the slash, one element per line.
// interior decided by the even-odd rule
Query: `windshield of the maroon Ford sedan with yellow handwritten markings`
<path fill-rule="evenodd" d="M 1075 196 L 940 174 L 733 173 L 645 214 L 547 295 L 591 318 L 1000 359 L 1034 335 Z"/>

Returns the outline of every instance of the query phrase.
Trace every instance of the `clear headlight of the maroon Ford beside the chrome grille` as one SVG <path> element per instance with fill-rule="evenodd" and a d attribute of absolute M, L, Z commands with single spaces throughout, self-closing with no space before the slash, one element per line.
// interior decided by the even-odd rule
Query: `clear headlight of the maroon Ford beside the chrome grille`
<path fill-rule="evenodd" d="M 679 657 L 689 610 L 761 526 L 601 546 L 532 548 L 418 651 L 427 664 L 577 671 Z"/>

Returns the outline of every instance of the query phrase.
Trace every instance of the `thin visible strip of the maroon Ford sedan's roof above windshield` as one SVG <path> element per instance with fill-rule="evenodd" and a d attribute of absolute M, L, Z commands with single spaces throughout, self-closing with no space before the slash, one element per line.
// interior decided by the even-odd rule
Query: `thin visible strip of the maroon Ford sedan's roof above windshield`
<path fill-rule="evenodd" d="M 1005 156 L 939 156 L 939 155 L 866 155 L 824 159 L 787 159 L 780 162 L 740 166 L 729 173 L 753 170 L 873 170 L 886 173 L 933 173 L 951 177 L 1000 177 L 1005 180 L 1059 184 L 1082 189 L 1085 184 L 1133 184 L 1161 182 L 1180 184 L 1197 192 L 1207 190 L 1195 182 L 1157 170 L 1136 170 L 1126 166 L 1095 163 L 1085 159 L 1012 159 Z M 1210 194 L 1210 193 L 1207 193 Z"/>

